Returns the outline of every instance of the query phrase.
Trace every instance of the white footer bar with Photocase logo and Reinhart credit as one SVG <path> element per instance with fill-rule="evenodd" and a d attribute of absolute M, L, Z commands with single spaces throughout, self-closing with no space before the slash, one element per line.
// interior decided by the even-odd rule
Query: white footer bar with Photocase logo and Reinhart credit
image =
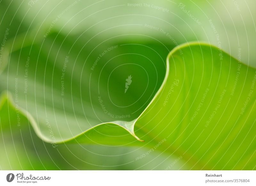
<path fill-rule="evenodd" d="M 256 185 L 256 171 L 0 171 L 0 185 Z"/>

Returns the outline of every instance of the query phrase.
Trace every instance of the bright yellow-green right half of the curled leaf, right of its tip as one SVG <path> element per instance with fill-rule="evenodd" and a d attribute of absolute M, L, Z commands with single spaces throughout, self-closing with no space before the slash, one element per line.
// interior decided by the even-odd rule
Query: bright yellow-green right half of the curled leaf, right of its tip
<path fill-rule="evenodd" d="M 202 43 L 182 45 L 167 60 L 164 88 L 135 124 L 139 137 L 166 139 L 159 149 L 191 169 L 255 169 L 256 70 Z"/>

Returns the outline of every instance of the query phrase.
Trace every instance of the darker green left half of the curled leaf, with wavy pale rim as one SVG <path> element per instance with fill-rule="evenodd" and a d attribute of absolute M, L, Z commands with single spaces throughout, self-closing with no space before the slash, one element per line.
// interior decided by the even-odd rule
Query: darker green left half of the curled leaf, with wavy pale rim
<path fill-rule="evenodd" d="M 15 105 L 17 114 L 27 116 L 36 134 L 49 143 L 77 135 L 84 143 L 137 143 L 133 120 L 159 89 L 165 72 L 162 56 L 170 49 L 143 35 L 98 41 L 54 31 L 45 38 L 44 33 L 20 35 L 9 43 L 10 61 L 1 77 L 1 88 L 12 94 L 5 96 L 6 105 Z M 139 44 L 140 38 L 148 43 Z M 127 87 L 129 76 L 132 84 Z"/>

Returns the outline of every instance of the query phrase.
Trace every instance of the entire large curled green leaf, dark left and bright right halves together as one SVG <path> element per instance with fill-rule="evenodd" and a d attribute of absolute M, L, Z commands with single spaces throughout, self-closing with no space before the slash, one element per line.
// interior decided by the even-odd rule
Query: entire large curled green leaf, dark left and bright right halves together
<path fill-rule="evenodd" d="M 255 69 L 211 45 L 188 43 L 171 51 L 165 71 L 164 45 L 148 48 L 124 37 L 94 46 L 101 42 L 82 37 L 85 44 L 76 44 L 57 33 L 42 40 L 39 33 L 31 45 L 34 39 L 21 36 L 25 46 L 12 51 L 1 87 L 12 92 L 37 135 L 53 144 L 139 145 L 180 157 L 180 169 L 255 169 Z M 115 42 L 119 48 L 103 54 L 92 73 L 95 59 Z M 125 93 L 130 75 L 134 87 Z M 8 105 L 11 96 L 5 100 Z M 115 121 L 112 113 L 131 117 Z"/>

